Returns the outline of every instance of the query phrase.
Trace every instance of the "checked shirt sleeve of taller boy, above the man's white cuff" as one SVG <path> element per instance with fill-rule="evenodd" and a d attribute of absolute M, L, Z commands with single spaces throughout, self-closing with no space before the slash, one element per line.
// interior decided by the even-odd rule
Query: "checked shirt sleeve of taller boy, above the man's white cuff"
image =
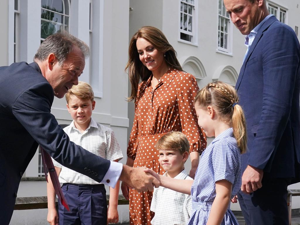
<path fill-rule="evenodd" d="M 123 154 L 113 130 L 109 129 L 106 137 L 107 137 L 106 159 L 110 161 L 115 161 L 115 160 L 120 161 L 123 158 Z"/>

